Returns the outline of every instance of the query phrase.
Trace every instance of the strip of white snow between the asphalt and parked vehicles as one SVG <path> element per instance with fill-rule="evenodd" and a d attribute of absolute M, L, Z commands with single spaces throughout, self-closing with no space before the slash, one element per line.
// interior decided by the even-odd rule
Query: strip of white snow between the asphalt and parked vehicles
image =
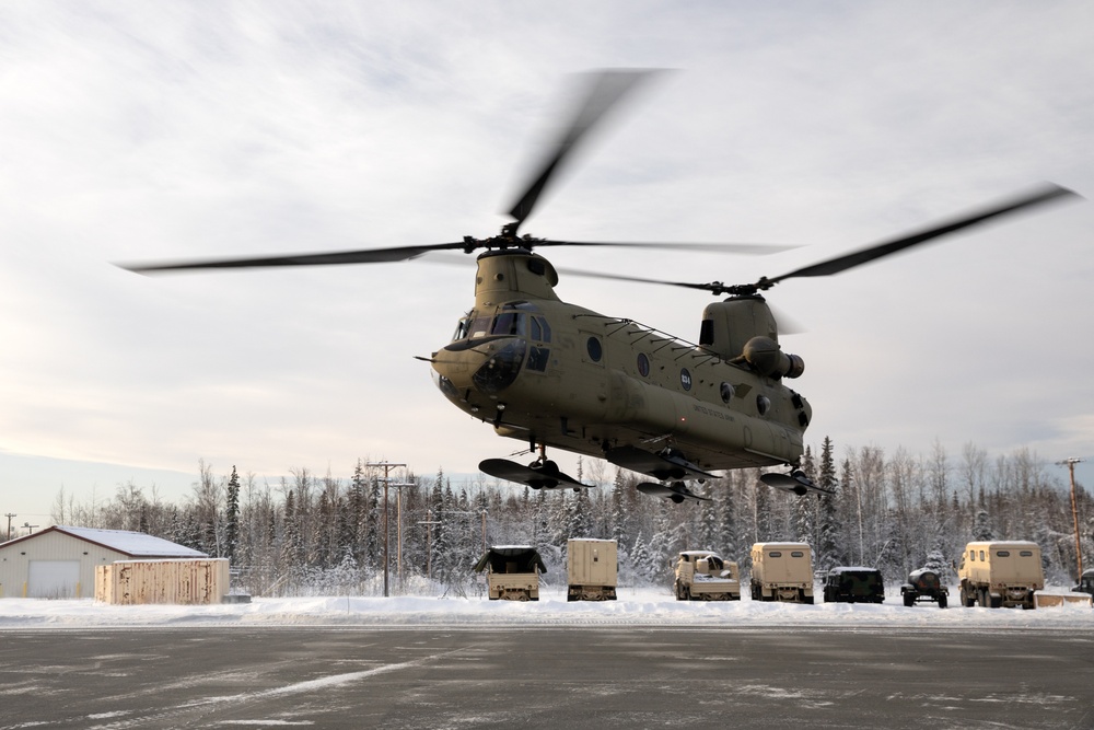
<path fill-rule="evenodd" d="M 1056 592 L 1056 591 L 1051 591 Z M 1063 592 L 1063 591 L 1059 591 Z M 923 629 L 1094 629 L 1089 604 L 1015 609 L 964 609 L 952 601 L 905 607 L 889 591 L 876 604 L 822 603 L 798 605 L 748 600 L 731 602 L 676 601 L 655 588 L 621 588 L 619 600 L 568 602 L 565 591 L 547 589 L 538 602 L 489 601 L 485 598 L 323 596 L 254 599 L 251 603 L 219 605 L 118 606 L 92 600 L 0 600 L 0 630 L 12 628 L 84 627 L 206 627 L 206 626 L 345 626 L 386 627 L 521 627 L 521 626 L 665 626 L 766 627 L 792 626 L 843 630 L 911 627 Z M 951 594 L 953 598 L 953 593 Z"/>

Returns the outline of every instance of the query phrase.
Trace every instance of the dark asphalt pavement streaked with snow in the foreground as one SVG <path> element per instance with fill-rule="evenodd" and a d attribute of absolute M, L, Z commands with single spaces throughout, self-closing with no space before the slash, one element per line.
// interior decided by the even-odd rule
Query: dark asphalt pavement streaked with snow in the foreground
<path fill-rule="evenodd" d="M 0 631 L 15 728 L 1094 728 L 1094 636 L 627 627 Z"/>

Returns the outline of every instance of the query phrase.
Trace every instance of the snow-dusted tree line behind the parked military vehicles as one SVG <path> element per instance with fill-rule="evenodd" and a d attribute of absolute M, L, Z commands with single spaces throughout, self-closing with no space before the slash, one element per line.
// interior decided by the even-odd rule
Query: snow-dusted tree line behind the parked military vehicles
<path fill-rule="evenodd" d="M 565 584 L 571 537 L 618 541 L 621 586 L 667 588 L 682 549 L 713 549 L 746 573 L 756 542 L 808 543 L 818 576 L 863 565 L 899 583 L 920 567 L 955 581 L 952 564 L 971 540 L 1032 540 L 1050 583 L 1070 586 L 1074 578 L 1069 485 L 1062 470 L 1027 450 L 989 460 L 974 444 L 957 457 L 938 443 L 927 456 L 863 447 L 837 459 L 826 438 L 818 454 L 806 450 L 802 467 L 833 495 L 776 491 L 759 483 L 759 470 L 738 470 L 693 485 L 710 501 L 676 505 L 641 495 L 641 477 L 609 473 L 598 460 L 579 462 L 578 478 L 597 485 L 579 491 L 489 477 L 454 482 L 443 468 L 385 482 L 368 460 L 349 478 L 301 467 L 270 483 L 235 466 L 217 475 L 202 461 L 179 503 L 130 482 L 103 503 L 79 503 L 61 490 L 51 518 L 144 532 L 226 557 L 234 588 L 266 596 L 382 595 L 385 572 L 392 594 L 467 594 L 480 590 L 472 566 L 486 546 L 499 544 L 534 545 L 548 567 L 545 582 Z M 1091 498 L 1081 486 L 1076 496 L 1083 555 L 1094 563 Z"/>

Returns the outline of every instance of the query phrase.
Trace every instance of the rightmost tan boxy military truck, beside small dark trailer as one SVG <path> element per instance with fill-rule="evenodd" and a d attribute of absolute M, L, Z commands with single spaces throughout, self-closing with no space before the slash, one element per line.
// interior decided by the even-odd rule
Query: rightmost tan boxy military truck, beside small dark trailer
<path fill-rule="evenodd" d="M 1034 592 L 1045 588 L 1040 547 L 1025 541 L 969 543 L 962 553 L 957 578 L 965 607 L 978 603 L 991 609 L 1033 609 Z"/>

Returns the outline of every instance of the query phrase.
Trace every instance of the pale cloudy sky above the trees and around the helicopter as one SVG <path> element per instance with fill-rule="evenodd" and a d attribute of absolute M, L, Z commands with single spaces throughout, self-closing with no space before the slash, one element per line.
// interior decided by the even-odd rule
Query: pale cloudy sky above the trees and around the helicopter
<path fill-rule="evenodd" d="M 37 523 L 62 487 L 130 480 L 184 498 L 200 461 L 259 480 L 358 459 L 473 474 L 520 449 L 414 359 L 470 308 L 473 257 L 117 263 L 494 234 L 574 74 L 660 68 L 522 232 L 801 246 L 548 254 L 754 281 L 1044 181 L 1094 196 L 1092 42 L 1078 1 L 4 3 L 0 511 Z M 1090 202 L 1050 206 L 769 292 L 806 331 L 782 341 L 806 363 L 807 443 L 1094 457 L 1092 228 Z M 709 301 L 565 276 L 557 292 L 693 341 Z"/>

